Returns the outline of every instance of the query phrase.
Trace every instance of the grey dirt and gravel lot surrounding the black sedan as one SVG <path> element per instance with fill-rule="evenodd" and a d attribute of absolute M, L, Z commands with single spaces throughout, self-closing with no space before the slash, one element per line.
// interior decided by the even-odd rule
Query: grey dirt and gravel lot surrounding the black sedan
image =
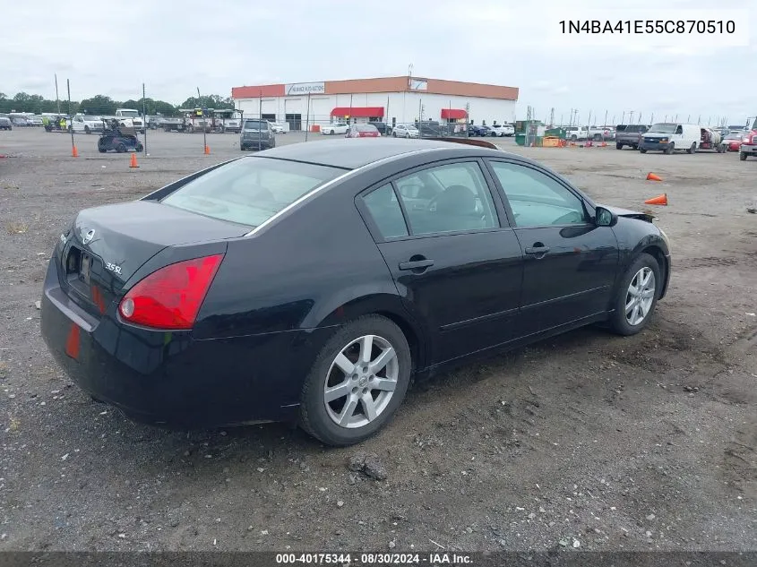
<path fill-rule="evenodd" d="M 0 133 L 0 550 L 755 549 L 757 161 L 503 142 L 600 202 L 667 192 L 674 272 L 653 324 L 418 383 L 382 434 L 326 450 L 286 425 L 134 425 L 56 367 L 35 302 L 65 222 L 239 153 L 233 134 L 204 156 L 202 135 L 151 133 L 130 169 L 76 141 L 73 159 L 66 134 Z M 349 470 L 361 451 L 385 479 Z"/>

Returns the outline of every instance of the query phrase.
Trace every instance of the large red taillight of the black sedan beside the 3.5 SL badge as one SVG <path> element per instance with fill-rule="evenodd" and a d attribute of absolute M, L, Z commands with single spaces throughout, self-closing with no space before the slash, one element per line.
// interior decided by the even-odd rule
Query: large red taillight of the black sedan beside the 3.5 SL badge
<path fill-rule="evenodd" d="M 170 264 L 129 289 L 118 312 L 127 322 L 154 329 L 191 329 L 223 254 Z"/>

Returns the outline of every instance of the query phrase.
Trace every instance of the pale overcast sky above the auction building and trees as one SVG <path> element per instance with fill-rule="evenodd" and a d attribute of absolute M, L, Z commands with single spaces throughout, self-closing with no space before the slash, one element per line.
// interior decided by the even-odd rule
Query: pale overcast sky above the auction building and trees
<path fill-rule="evenodd" d="M 555 108 L 567 122 L 598 122 L 633 110 L 678 114 L 757 115 L 757 16 L 736 21 L 734 37 L 692 37 L 671 47 L 662 39 L 624 35 L 568 39 L 564 17 L 613 17 L 606 0 L 223 0 L 181 3 L 130 0 L 33 0 L 3 11 L 0 91 L 55 98 L 54 73 L 65 97 L 147 96 L 180 103 L 196 92 L 272 82 L 403 75 L 485 82 L 520 88 L 518 116 L 528 105 L 539 118 Z M 661 4 L 690 17 L 701 8 L 726 14 L 750 4 L 732 0 L 634 0 L 641 18 Z M 620 4 L 619 4 L 620 5 Z M 566 7 L 567 6 L 567 7 Z M 567 12 L 566 12 L 567 10 Z M 757 10 L 757 8 L 755 8 Z M 712 12 L 710 12 L 711 17 Z M 721 16 L 722 17 L 722 16 Z M 744 25 L 745 24 L 745 25 Z M 746 29 L 748 28 L 748 29 Z M 593 43 L 591 43 L 593 41 Z M 645 119 L 646 120 L 646 119 Z M 594 120 L 592 119 L 592 122 Z"/>

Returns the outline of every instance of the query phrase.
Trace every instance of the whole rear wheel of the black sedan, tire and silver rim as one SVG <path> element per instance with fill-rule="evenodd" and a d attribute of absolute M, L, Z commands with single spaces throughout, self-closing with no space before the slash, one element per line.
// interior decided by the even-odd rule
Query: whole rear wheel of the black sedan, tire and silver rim
<path fill-rule="evenodd" d="M 305 379 L 300 425 L 327 445 L 364 441 L 400 406 L 411 364 L 408 340 L 389 319 L 349 322 L 326 342 Z"/>

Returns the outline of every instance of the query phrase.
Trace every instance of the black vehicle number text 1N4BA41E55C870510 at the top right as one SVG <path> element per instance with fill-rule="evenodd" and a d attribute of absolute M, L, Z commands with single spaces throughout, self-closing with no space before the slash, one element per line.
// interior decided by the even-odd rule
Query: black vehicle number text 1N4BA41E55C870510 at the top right
<path fill-rule="evenodd" d="M 733 20 L 561 20 L 563 34 L 733 34 Z"/>

